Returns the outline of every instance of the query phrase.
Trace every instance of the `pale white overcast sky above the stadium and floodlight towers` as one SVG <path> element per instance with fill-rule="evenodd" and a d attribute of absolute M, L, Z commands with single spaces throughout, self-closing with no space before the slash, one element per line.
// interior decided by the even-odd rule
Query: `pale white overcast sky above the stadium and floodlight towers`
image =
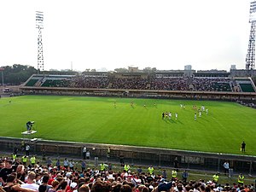
<path fill-rule="evenodd" d="M 44 12 L 44 70 L 245 68 L 250 0 L 0 1 L 0 67 L 38 68 L 36 11 Z"/>

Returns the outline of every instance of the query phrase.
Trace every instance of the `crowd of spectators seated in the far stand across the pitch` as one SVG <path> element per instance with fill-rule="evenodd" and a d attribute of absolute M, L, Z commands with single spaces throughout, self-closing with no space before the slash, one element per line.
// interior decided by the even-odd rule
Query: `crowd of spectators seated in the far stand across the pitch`
<path fill-rule="evenodd" d="M 47 79 L 47 80 L 45 80 Z M 34 80 L 34 79 L 32 79 Z M 125 90 L 195 90 L 195 91 L 241 91 L 236 80 L 228 78 L 196 78 L 196 77 L 122 77 L 108 78 L 107 76 L 73 76 L 69 79 L 50 79 L 45 77 L 42 87 L 74 87 L 95 89 L 125 89 Z M 47 83 L 47 84 L 46 84 Z M 29 82 L 27 83 L 29 84 Z M 37 83 L 36 83 L 37 84 Z M 35 84 L 35 85 L 36 85 Z M 247 81 L 250 84 L 250 81 Z"/>

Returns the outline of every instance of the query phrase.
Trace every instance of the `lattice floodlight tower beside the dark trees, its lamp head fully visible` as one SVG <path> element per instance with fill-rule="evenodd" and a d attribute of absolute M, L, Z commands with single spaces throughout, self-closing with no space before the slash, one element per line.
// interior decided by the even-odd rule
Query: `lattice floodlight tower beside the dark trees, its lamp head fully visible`
<path fill-rule="evenodd" d="M 44 29 L 44 12 L 36 11 L 36 28 L 38 28 L 38 73 L 44 71 L 42 29 Z"/>

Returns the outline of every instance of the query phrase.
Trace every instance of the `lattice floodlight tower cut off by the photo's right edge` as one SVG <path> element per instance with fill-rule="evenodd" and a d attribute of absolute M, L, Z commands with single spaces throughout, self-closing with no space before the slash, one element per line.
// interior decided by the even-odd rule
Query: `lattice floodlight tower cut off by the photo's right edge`
<path fill-rule="evenodd" d="M 256 0 L 253 0 L 250 4 L 250 17 L 249 23 L 251 23 L 251 31 L 249 44 L 247 49 L 246 69 L 253 69 L 255 66 L 255 28 L 256 28 Z"/>

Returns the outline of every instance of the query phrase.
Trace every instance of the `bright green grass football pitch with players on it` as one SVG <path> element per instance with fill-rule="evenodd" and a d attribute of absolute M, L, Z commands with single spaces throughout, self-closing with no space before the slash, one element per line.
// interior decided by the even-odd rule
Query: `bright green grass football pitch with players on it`
<path fill-rule="evenodd" d="M 208 114 L 195 120 L 193 105 L 204 105 Z M 172 119 L 162 119 L 163 112 Z M 0 117 L 1 137 L 22 137 L 33 120 L 38 133 L 32 137 L 49 140 L 228 154 L 241 154 L 245 141 L 246 154 L 256 155 L 256 110 L 234 102 L 19 96 L 0 99 Z"/>

